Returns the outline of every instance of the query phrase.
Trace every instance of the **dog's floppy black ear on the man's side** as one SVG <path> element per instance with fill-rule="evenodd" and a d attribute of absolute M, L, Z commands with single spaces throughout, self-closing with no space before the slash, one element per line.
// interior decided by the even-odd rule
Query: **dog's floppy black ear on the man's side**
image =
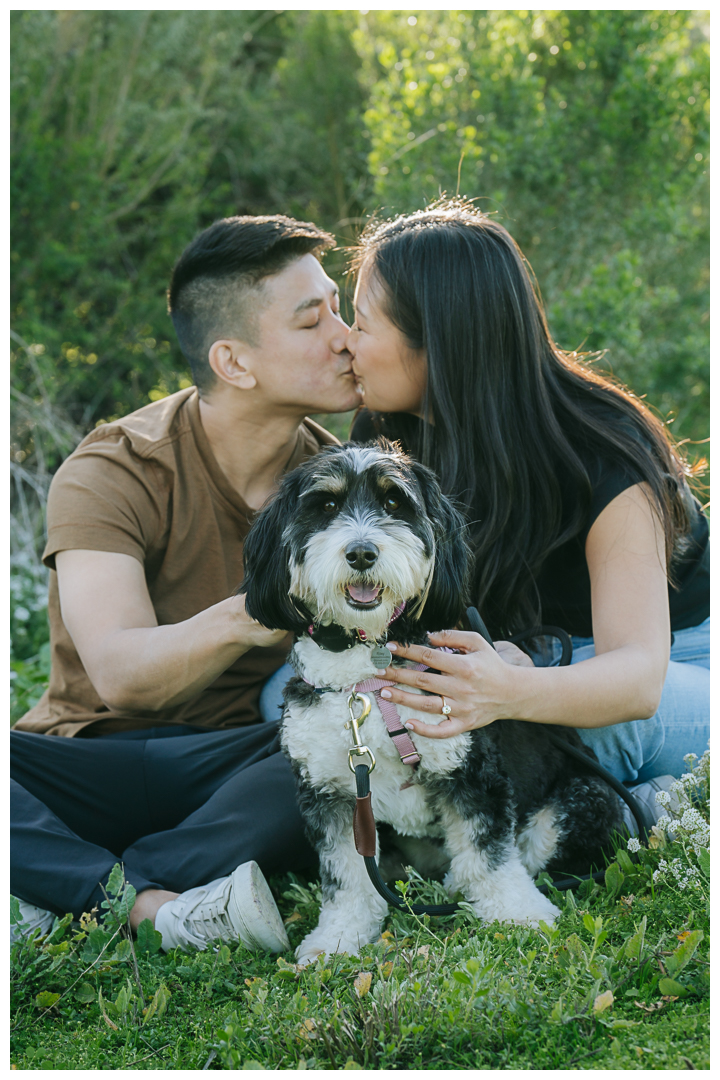
<path fill-rule="evenodd" d="M 253 523 L 243 545 L 245 577 L 237 593 L 245 593 L 245 610 L 268 630 L 301 634 L 311 618 L 290 598 L 289 548 L 283 539 L 297 508 L 302 480 L 296 471 L 283 478 L 280 489 Z"/>

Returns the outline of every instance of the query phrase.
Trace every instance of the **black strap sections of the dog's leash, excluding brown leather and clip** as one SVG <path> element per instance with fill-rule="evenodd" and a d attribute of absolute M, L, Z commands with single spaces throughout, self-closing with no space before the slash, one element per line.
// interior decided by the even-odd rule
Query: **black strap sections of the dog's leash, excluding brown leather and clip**
<path fill-rule="evenodd" d="M 492 645 L 492 648 L 494 649 L 490 633 L 483 622 L 477 608 L 467 608 L 466 618 L 470 629 L 474 631 L 474 633 L 479 634 L 480 637 L 484 637 L 485 640 L 489 645 Z M 515 634 L 510 638 L 510 640 L 514 645 L 520 645 L 522 642 L 532 640 L 536 637 L 557 637 L 562 646 L 562 654 L 560 657 L 559 666 L 567 667 L 570 664 L 570 661 L 572 660 L 572 642 L 566 631 L 561 630 L 559 626 L 534 626 L 532 630 L 524 631 L 521 634 Z M 556 734 L 556 732 L 546 730 L 545 733 L 554 746 L 557 746 L 569 757 L 574 757 L 576 761 L 586 766 L 590 772 L 595 772 L 598 777 L 601 777 L 602 780 L 604 780 L 604 782 L 612 787 L 617 795 L 620 795 L 621 799 L 623 799 L 623 801 L 629 807 L 630 813 L 638 823 L 640 837 L 642 841 L 647 843 L 650 836 L 650 829 L 654 825 L 654 821 L 651 820 L 646 808 L 641 807 L 630 795 L 625 785 L 616 780 L 615 777 L 601 766 L 599 761 L 589 757 L 587 754 L 583 754 L 583 752 L 578 750 L 576 746 L 571 746 L 566 739 L 562 739 L 560 735 Z M 366 765 L 355 766 L 355 783 L 357 786 L 357 798 L 366 797 L 370 792 L 370 771 Z M 392 904 L 393 907 L 398 907 L 404 912 L 411 912 L 412 915 L 454 915 L 460 910 L 460 904 L 408 904 L 406 900 L 399 896 L 394 889 L 391 889 L 385 881 L 383 881 L 375 856 L 363 855 L 363 859 L 365 860 L 365 867 L 372 885 L 380 895 L 386 900 L 389 904 Z M 553 881 L 552 888 L 556 889 L 558 892 L 566 892 L 569 889 L 576 889 L 583 881 L 602 881 L 603 879 L 604 870 L 596 870 L 594 874 L 583 874 Z M 539 892 L 547 895 L 551 887 L 547 885 L 536 885 L 535 888 Z"/>

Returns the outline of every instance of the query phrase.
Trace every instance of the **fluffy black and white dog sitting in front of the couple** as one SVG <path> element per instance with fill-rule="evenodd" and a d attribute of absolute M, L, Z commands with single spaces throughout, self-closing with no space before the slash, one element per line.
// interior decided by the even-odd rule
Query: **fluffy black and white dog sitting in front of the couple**
<path fill-rule="evenodd" d="M 457 625 L 468 567 L 463 526 L 433 473 L 381 440 L 328 447 L 285 476 L 245 542 L 247 611 L 297 635 L 282 742 L 323 883 L 320 922 L 298 948 L 300 963 L 356 953 L 382 929 L 388 905 L 353 842 L 348 697 L 384 666 L 372 654 L 389 627 L 402 643 L 426 644 L 426 631 Z M 412 715 L 402 705 L 397 713 Z M 554 730 L 583 746 L 574 730 Z M 497 720 L 450 739 L 413 734 L 413 771 L 373 700 L 362 741 L 377 760 L 377 821 L 400 837 L 444 845 L 446 887 L 489 921 L 552 923 L 557 908 L 533 876 L 601 865 L 621 825 L 614 793 L 553 746 L 542 724 Z"/>

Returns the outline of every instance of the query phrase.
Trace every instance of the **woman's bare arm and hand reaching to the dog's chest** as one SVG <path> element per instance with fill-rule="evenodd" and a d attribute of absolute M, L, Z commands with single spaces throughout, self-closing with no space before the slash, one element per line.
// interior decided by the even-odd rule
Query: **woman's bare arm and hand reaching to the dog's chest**
<path fill-rule="evenodd" d="M 452 712 L 439 725 L 412 721 L 429 738 L 447 738 L 501 718 L 599 728 L 652 716 L 663 690 L 670 620 L 662 525 L 642 485 L 619 495 L 594 523 L 585 546 L 590 577 L 596 656 L 570 667 L 504 663 L 478 635 L 444 631 L 435 646 L 462 654 L 397 646 L 396 656 L 441 674 L 391 667 L 398 684 L 432 697 L 393 689 L 391 700 L 438 715 L 444 696 Z M 386 691 L 383 691 L 383 697 Z"/>

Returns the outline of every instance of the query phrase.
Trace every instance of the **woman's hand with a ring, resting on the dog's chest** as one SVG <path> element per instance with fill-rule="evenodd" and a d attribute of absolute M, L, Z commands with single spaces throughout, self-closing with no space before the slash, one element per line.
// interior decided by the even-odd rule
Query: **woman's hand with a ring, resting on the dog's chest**
<path fill-rule="evenodd" d="M 402 686 L 426 691 L 427 696 L 393 687 L 382 690 L 381 697 L 397 705 L 407 705 L 413 712 L 417 710 L 434 716 L 441 716 L 445 699 L 450 714 L 437 725 L 413 718 L 407 721 L 406 727 L 427 739 L 449 739 L 510 715 L 513 666 L 532 667 L 529 657 L 510 642 L 499 642 L 495 651 L 479 634 L 461 630 L 445 630 L 429 637 L 435 648 L 396 643 L 390 643 L 388 647 L 396 657 L 425 664 L 439 674 L 394 666 L 388 669 L 385 674 Z M 441 646 L 458 652 L 440 652 Z"/>

